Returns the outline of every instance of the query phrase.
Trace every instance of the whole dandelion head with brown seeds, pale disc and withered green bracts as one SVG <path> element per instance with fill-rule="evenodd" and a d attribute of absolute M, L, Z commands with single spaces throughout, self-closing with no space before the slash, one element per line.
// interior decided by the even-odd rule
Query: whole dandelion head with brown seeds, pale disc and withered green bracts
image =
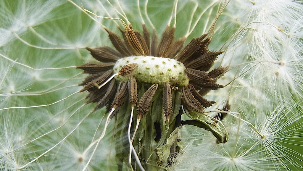
<path fill-rule="evenodd" d="M 115 49 L 87 47 L 99 62 L 89 62 L 78 68 L 89 74 L 81 84 L 81 91 L 89 92 L 88 103 L 96 103 L 95 109 L 106 106 L 108 118 L 116 116 L 117 123 L 121 122 L 116 125 L 121 128 L 116 128 L 115 132 L 116 146 L 124 149 L 116 152 L 119 168 L 123 168 L 125 156 L 131 158 L 129 146 L 125 145 L 129 143 L 139 154 L 134 153 L 136 159 L 129 160 L 132 167 L 140 161 L 139 167 L 145 169 L 148 169 L 147 163 L 153 166 L 153 163 L 161 166 L 171 163 L 178 153 L 176 149 L 181 149 L 177 148 L 176 137 L 182 126 L 182 114 L 193 121 L 183 125 L 204 128 L 215 135 L 218 143 L 225 143 L 226 136 L 220 127 L 203 114 L 206 107 L 215 103 L 203 96 L 220 88 L 216 80 L 227 70 L 218 67 L 209 71 L 223 51 L 208 50 L 211 38 L 207 34 L 183 47 L 185 39 L 175 40 L 174 27 L 167 27 L 159 42 L 155 30 L 150 36 L 145 25 L 143 35 L 133 30 L 132 25 L 125 25 L 125 30 L 121 30 L 122 39 L 105 30 Z M 125 127 L 130 131 L 122 129 Z M 134 132 L 132 139 L 130 132 Z M 136 136 L 136 132 L 140 135 Z"/>

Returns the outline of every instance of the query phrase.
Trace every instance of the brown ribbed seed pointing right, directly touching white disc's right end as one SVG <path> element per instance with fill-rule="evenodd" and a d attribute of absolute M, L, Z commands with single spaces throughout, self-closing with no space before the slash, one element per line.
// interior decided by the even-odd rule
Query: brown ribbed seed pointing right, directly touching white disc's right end
<path fill-rule="evenodd" d="M 205 82 L 212 81 L 210 76 L 205 71 L 187 68 L 187 69 L 185 69 L 185 72 L 186 72 L 187 76 L 195 82 L 205 83 Z"/>

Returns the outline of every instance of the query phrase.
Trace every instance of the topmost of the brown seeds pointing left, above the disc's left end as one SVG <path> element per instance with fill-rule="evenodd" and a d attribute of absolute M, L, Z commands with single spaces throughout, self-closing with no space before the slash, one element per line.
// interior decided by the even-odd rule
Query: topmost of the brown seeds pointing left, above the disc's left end
<path fill-rule="evenodd" d="M 86 47 L 85 49 L 91 52 L 92 56 L 100 62 L 116 62 L 122 56 L 119 52 L 107 46 L 94 49 Z"/>

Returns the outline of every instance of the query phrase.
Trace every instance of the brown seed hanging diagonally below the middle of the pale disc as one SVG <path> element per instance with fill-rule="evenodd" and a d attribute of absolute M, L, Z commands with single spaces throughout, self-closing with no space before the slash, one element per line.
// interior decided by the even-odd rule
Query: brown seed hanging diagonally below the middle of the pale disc
<path fill-rule="evenodd" d="M 149 89 L 146 90 L 146 92 L 143 94 L 141 99 L 138 102 L 137 105 L 137 115 L 138 117 L 144 116 L 149 111 L 149 108 L 151 107 L 151 100 L 155 96 L 155 93 L 158 89 L 158 84 L 153 84 Z"/>

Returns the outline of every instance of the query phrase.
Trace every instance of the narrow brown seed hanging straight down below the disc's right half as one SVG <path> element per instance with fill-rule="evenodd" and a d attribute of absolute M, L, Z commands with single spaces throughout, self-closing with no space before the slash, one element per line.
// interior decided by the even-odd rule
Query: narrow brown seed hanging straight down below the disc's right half
<path fill-rule="evenodd" d="M 168 82 L 164 82 L 163 85 L 163 108 L 166 119 L 169 120 L 172 115 L 172 97 L 171 97 L 171 85 Z"/>

